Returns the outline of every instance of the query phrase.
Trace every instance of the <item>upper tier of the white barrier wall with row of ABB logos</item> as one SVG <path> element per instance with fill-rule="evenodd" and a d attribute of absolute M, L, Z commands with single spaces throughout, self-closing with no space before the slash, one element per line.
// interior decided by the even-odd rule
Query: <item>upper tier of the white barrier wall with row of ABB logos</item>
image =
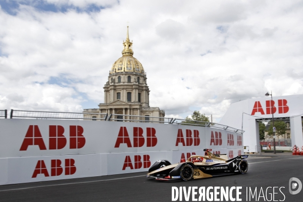
<path fill-rule="evenodd" d="M 0 158 L 242 147 L 242 134 L 186 125 L 7 119 L 0 128 Z"/>

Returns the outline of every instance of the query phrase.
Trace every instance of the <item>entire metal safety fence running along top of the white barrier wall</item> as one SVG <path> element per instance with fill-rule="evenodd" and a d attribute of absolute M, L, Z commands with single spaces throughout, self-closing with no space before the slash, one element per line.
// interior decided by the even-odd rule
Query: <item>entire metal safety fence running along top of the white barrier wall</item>
<path fill-rule="evenodd" d="M 3 110 L 4 111 L 4 110 Z M 200 126 L 223 129 L 235 133 L 243 133 L 243 130 L 232 128 L 230 126 L 205 122 L 193 121 L 185 119 L 167 118 L 167 117 L 151 117 L 123 114 L 105 114 L 105 113 L 77 113 L 77 112 L 47 112 L 47 111 L 28 111 L 28 110 L 11 110 L 11 119 L 74 119 L 74 120 L 91 120 L 91 121 L 119 121 L 119 122 L 141 122 L 141 123 L 164 123 L 178 124 L 188 126 Z"/>

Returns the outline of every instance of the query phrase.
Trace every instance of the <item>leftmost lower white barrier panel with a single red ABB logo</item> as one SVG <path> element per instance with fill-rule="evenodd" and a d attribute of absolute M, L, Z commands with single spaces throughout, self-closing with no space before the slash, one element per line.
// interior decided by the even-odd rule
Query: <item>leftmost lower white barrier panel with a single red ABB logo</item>
<path fill-rule="evenodd" d="M 5 161 L 6 164 L 3 164 Z M 93 177 L 102 174 L 101 155 L 8 158 L 0 159 L 0 163 L 0 184 Z M 103 164 L 106 165 L 106 162 Z M 3 172 L 4 170 L 7 172 Z"/>

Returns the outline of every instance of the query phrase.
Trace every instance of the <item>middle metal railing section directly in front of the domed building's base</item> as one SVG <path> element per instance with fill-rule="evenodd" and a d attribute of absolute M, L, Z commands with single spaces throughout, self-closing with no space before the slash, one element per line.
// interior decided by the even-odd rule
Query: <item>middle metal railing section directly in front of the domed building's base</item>
<path fill-rule="evenodd" d="M 170 123 L 173 118 L 110 114 L 108 121 Z"/>

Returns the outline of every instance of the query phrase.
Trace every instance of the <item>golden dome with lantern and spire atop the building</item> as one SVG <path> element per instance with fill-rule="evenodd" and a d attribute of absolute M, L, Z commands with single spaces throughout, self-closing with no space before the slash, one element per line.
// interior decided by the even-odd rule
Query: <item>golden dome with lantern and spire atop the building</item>
<path fill-rule="evenodd" d="M 136 72 L 144 74 L 144 69 L 142 64 L 133 57 L 132 42 L 129 40 L 128 36 L 128 26 L 126 33 L 126 40 L 123 41 L 123 51 L 122 57 L 119 58 L 112 66 L 111 73 L 116 72 Z"/>

